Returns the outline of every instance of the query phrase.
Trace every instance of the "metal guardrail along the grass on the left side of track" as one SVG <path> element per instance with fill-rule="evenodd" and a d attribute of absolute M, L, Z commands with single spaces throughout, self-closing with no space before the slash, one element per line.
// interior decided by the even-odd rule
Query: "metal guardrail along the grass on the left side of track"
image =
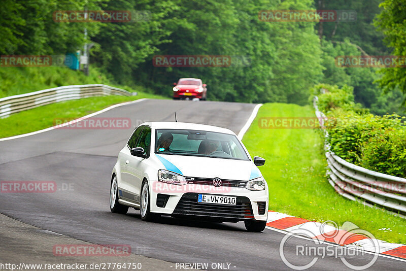
<path fill-rule="evenodd" d="M 45 106 L 59 101 L 106 95 L 137 95 L 124 89 L 102 84 L 62 86 L 0 99 L 0 118 L 28 109 Z"/>

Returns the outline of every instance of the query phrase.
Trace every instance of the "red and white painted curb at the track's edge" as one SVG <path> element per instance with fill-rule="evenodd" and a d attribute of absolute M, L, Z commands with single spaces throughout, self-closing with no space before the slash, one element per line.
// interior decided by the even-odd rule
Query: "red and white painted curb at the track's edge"
<path fill-rule="evenodd" d="M 268 212 L 266 228 L 294 232 L 294 234 L 298 235 L 301 235 L 302 232 L 302 235 L 307 238 L 326 241 L 348 248 L 363 248 L 365 251 L 379 252 L 380 254 L 406 259 L 406 245 L 387 243 L 378 239 L 371 240 L 363 234 L 354 234 L 354 232 L 339 229 L 329 224 L 309 221 L 278 212 Z M 379 246 L 374 246 L 373 243 L 378 243 Z M 379 251 L 376 251 L 377 247 Z"/>

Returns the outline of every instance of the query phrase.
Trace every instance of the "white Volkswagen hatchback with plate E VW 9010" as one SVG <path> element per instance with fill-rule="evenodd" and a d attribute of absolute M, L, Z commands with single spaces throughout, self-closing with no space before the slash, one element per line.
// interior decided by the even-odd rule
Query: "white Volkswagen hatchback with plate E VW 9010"
<path fill-rule="evenodd" d="M 161 215 L 221 222 L 244 221 L 262 231 L 268 186 L 258 170 L 265 159 L 251 160 L 229 129 L 181 122 L 138 126 L 113 168 L 110 210 L 141 211 L 143 220 Z"/>

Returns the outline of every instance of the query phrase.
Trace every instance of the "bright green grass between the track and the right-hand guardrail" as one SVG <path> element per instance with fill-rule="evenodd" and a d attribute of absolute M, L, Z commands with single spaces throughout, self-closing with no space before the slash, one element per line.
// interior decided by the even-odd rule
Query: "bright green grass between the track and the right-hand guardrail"
<path fill-rule="evenodd" d="M 406 244 L 406 220 L 348 200 L 330 186 L 320 130 L 258 125 L 261 117 L 314 116 L 310 106 L 265 104 L 244 136 L 249 152 L 266 159 L 260 170 L 269 186 L 269 210 L 339 226 L 350 221 L 380 240 Z"/>

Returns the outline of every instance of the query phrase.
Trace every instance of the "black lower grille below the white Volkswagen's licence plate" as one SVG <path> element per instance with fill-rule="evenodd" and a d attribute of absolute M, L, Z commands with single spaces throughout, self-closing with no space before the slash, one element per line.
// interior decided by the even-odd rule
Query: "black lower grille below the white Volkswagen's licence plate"
<path fill-rule="evenodd" d="M 211 218 L 254 219 L 251 201 L 248 197 L 237 196 L 236 205 L 218 205 L 197 202 L 198 193 L 185 193 L 179 200 L 173 215 L 204 216 Z"/>

